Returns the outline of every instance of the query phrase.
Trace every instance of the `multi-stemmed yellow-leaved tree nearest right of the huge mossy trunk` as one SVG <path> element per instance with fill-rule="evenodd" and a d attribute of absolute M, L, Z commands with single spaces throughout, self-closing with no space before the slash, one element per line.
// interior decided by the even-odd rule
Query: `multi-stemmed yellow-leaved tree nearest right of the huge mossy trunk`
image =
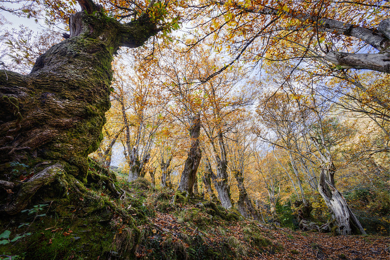
<path fill-rule="evenodd" d="M 135 68 L 132 76 L 118 69 L 115 77 L 113 87 L 117 89 L 117 93 L 113 93 L 113 96 L 119 103 L 118 110 L 121 111 L 125 127 L 129 164 L 127 181 L 131 182 L 140 177 L 144 166 L 149 162 L 154 138 L 164 116 L 155 96 L 158 89 L 153 84 L 153 77 L 142 73 L 139 67 Z M 129 111 L 132 111 L 132 120 L 128 118 Z M 136 129 L 134 138 L 131 138 L 131 127 Z"/>

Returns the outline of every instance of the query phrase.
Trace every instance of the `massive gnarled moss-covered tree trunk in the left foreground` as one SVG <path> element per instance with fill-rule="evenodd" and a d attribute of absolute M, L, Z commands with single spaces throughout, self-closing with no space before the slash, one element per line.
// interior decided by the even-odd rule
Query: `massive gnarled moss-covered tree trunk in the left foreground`
<path fill-rule="evenodd" d="M 107 17 L 91 0 L 78 3 L 70 34 L 39 56 L 30 74 L 0 71 L 0 185 L 12 191 L 1 214 L 17 214 L 44 186 L 58 185 L 67 196 L 68 187 L 87 182 L 87 156 L 98 149 L 110 108 L 112 57 L 162 30 L 148 15 L 154 1 L 128 23 Z M 35 174 L 16 183 L 9 175 L 13 161 Z"/>

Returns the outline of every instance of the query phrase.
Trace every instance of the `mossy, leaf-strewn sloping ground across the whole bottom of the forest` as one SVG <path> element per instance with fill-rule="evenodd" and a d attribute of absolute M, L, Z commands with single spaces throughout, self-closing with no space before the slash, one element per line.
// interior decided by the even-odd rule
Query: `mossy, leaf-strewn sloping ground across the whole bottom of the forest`
<path fill-rule="evenodd" d="M 105 183 L 97 183 L 88 186 L 87 196 L 74 197 L 70 191 L 69 200 L 62 204 L 48 203 L 33 214 L 1 219 L 0 234 L 10 230 L 11 239 L 27 232 L 31 235 L 0 246 L 0 259 L 5 255 L 25 260 L 388 257 L 387 238 L 332 237 L 274 228 L 199 198 L 174 202 L 175 192 L 151 188 L 145 179 L 121 182 L 116 183 L 124 192 L 119 198 L 110 196 Z M 41 214 L 46 215 L 38 217 Z M 22 223 L 29 224 L 18 227 Z"/>

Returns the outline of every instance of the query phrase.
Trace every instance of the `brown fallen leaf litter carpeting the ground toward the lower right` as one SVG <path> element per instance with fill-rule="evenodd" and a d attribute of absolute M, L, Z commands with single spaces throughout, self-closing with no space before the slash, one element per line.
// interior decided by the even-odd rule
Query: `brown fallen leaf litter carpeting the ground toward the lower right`
<path fill-rule="evenodd" d="M 191 207 L 185 207 L 184 210 L 191 210 Z M 180 221 L 180 220 L 179 220 Z M 156 217 L 150 218 L 150 223 L 156 228 L 156 234 L 151 238 L 169 238 L 173 237 L 180 240 L 180 233 L 186 233 L 190 236 L 203 237 L 205 244 L 213 246 L 229 241 L 234 237 L 240 245 L 233 244 L 231 250 L 235 252 L 237 259 L 346 259 L 346 260 L 389 260 L 390 259 L 390 238 L 379 236 L 332 236 L 331 233 L 292 231 L 289 228 L 274 228 L 271 225 L 264 225 L 248 220 L 232 222 L 216 222 L 210 228 L 199 230 L 196 224 L 180 223 L 177 217 L 170 213 L 157 213 Z M 218 224 L 220 225 L 218 228 Z M 251 225 L 257 225 L 260 234 L 272 242 L 271 247 L 265 246 L 263 252 L 251 254 L 257 251 L 251 248 L 251 243 L 245 239 L 245 228 Z M 216 227 L 215 227 L 216 226 Z M 219 230 L 218 230 L 219 229 Z M 221 232 L 221 229 L 225 232 Z M 222 233 L 222 234 L 221 234 Z M 279 247 L 279 249 L 275 250 Z M 185 245 L 189 246 L 189 245 Z M 235 248 L 234 248 L 235 246 Z M 246 247 L 245 249 L 243 247 Z M 149 251 L 150 252 L 150 251 Z M 138 258 L 147 257 L 145 246 L 140 246 L 137 250 Z M 191 257 L 189 257 L 191 259 Z"/>

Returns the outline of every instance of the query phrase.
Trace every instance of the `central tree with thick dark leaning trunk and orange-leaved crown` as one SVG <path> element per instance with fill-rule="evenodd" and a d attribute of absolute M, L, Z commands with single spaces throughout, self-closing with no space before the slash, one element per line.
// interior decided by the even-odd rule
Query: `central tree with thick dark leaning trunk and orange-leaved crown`
<path fill-rule="evenodd" d="M 199 147 L 202 96 L 198 92 L 199 85 L 194 83 L 201 74 L 198 69 L 199 61 L 194 58 L 193 53 L 176 55 L 176 52 L 170 52 L 170 55 L 159 62 L 160 81 L 173 103 L 169 107 L 170 113 L 188 130 L 191 145 L 177 190 L 192 195 L 196 171 L 202 157 Z"/>

